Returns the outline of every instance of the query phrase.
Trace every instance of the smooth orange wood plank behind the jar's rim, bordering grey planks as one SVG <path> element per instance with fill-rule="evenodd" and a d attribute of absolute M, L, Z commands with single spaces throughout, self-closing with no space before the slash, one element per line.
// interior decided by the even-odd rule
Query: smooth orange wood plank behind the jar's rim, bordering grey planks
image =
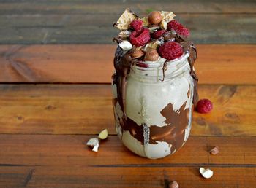
<path fill-rule="evenodd" d="M 256 38 L 255 38 L 256 39 Z M 110 83 L 116 45 L 1 45 L 0 82 Z M 255 84 L 256 45 L 198 44 L 201 84 Z"/>

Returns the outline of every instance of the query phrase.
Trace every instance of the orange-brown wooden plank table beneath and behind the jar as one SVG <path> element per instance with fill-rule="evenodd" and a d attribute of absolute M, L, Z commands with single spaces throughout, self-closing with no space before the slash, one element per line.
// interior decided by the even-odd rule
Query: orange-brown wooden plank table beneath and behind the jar
<path fill-rule="evenodd" d="M 112 23 L 126 8 L 176 12 L 197 44 L 192 133 L 148 160 L 118 141 Z M 255 1 L 0 1 L 0 187 L 256 187 Z M 47 44 L 47 45 L 45 45 Z M 84 142 L 108 128 L 99 152 Z M 208 154 L 219 146 L 216 156 Z M 211 168 L 203 179 L 198 169 Z"/>

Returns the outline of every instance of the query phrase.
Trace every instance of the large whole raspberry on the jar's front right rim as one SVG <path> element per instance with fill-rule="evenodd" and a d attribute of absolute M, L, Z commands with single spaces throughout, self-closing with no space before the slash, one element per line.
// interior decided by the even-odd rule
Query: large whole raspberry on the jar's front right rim
<path fill-rule="evenodd" d="M 159 47 L 159 55 L 167 60 L 173 60 L 181 57 L 183 48 L 178 42 L 166 42 Z"/>

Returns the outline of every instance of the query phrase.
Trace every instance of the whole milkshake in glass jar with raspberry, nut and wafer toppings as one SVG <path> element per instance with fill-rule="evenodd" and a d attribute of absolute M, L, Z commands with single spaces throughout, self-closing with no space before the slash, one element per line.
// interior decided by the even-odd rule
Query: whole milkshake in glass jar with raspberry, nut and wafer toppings
<path fill-rule="evenodd" d="M 173 12 L 138 17 L 126 9 L 113 74 L 116 132 L 129 150 L 157 159 L 175 153 L 189 137 L 197 75 L 195 45 Z"/>

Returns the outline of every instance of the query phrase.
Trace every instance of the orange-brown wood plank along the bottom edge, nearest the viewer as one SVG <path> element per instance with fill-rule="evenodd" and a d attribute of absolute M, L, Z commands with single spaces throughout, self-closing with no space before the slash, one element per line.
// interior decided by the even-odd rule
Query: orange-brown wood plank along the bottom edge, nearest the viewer
<path fill-rule="evenodd" d="M 10 187 L 168 187 L 176 180 L 187 188 L 255 187 L 256 168 L 211 168 L 203 179 L 194 167 L 94 168 L 63 166 L 0 167 L 0 186 Z M 31 173 L 33 172 L 33 173 Z M 30 176 L 32 174 L 32 176 Z M 29 177 L 29 178 L 28 178 Z M 29 179 L 29 181 L 27 180 Z"/>

